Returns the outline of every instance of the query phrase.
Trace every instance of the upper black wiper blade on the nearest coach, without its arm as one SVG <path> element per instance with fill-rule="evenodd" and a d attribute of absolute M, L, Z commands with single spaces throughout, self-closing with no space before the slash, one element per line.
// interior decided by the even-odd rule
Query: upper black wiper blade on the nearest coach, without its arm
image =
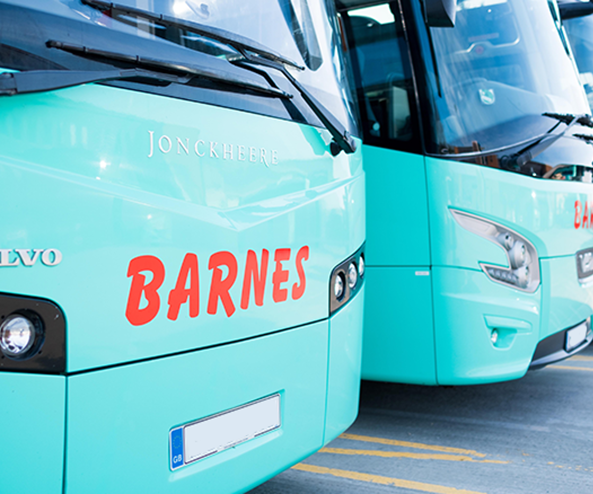
<path fill-rule="evenodd" d="M 279 53 L 270 50 L 263 44 L 257 43 L 256 41 L 251 40 L 245 36 L 240 36 L 239 34 L 231 33 L 231 31 L 211 26 L 204 26 L 203 24 L 194 23 L 192 21 L 184 21 L 181 19 L 177 19 L 175 17 L 170 17 L 169 15 L 154 14 L 154 12 L 128 7 L 127 5 L 103 2 L 101 0 L 82 0 L 82 3 L 88 5 L 89 7 L 93 7 L 101 12 L 115 10 L 123 12 L 123 14 L 129 14 L 134 17 L 139 17 L 147 21 L 151 21 L 155 24 L 161 24 L 161 26 L 176 27 L 179 29 L 183 29 L 185 31 L 188 31 L 189 33 L 198 34 L 199 36 L 205 36 L 209 39 L 228 44 L 229 46 L 232 46 L 235 50 L 239 52 L 242 52 L 243 50 L 248 50 L 250 52 L 257 53 L 257 55 L 262 56 L 266 59 L 273 60 L 279 63 L 285 63 L 286 65 L 290 65 L 299 70 L 304 70 L 304 67 L 298 65 L 291 59 L 288 59 L 285 56 L 282 56 Z"/>

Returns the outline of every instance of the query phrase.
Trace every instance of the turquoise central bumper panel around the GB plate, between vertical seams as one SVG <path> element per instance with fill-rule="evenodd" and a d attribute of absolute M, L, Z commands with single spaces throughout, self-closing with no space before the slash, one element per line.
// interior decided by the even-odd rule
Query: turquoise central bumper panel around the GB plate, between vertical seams
<path fill-rule="evenodd" d="M 323 445 L 329 323 L 75 375 L 66 494 L 246 492 Z M 171 471 L 169 433 L 278 393 L 280 428 Z"/>

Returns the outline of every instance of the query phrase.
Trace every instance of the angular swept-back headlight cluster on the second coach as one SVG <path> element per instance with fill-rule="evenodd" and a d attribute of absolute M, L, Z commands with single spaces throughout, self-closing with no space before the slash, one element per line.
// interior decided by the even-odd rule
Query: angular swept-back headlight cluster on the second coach
<path fill-rule="evenodd" d="M 505 250 L 509 266 L 480 263 L 488 278 L 503 285 L 533 293 L 540 285 L 540 260 L 533 244 L 510 228 L 480 216 L 450 209 L 455 221 Z"/>

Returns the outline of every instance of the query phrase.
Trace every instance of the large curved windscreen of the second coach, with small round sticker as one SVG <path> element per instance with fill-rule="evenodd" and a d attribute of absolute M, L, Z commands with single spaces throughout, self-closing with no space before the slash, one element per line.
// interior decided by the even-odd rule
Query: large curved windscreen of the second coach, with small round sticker
<path fill-rule="evenodd" d="M 509 146 L 550 130 L 543 113 L 591 113 L 557 19 L 553 1 L 465 0 L 454 28 L 430 28 L 433 152 Z"/>

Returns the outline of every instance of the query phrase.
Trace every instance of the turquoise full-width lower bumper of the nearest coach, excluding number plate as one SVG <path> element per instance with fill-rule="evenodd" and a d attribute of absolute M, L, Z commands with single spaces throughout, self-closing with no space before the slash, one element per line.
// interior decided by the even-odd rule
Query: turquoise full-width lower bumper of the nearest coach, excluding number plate
<path fill-rule="evenodd" d="M 68 377 L 0 372 L 0 417 L 15 423 L 0 450 L 2 492 L 252 489 L 355 419 L 363 302 L 364 288 L 329 320 L 136 364 Z M 171 429 L 273 393 L 279 429 L 171 471 Z"/>

